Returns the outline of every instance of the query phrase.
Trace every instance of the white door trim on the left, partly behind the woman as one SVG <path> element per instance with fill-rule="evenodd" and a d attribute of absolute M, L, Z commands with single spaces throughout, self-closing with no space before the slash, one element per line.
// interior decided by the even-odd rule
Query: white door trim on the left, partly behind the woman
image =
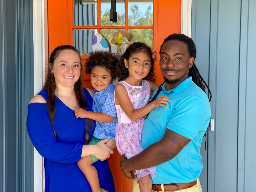
<path fill-rule="evenodd" d="M 33 0 L 34 95 L 44 83 L 48 63 L 47 0 Z M 44 191 L 43 157 L 34 148 L 34 191 Z"/>

